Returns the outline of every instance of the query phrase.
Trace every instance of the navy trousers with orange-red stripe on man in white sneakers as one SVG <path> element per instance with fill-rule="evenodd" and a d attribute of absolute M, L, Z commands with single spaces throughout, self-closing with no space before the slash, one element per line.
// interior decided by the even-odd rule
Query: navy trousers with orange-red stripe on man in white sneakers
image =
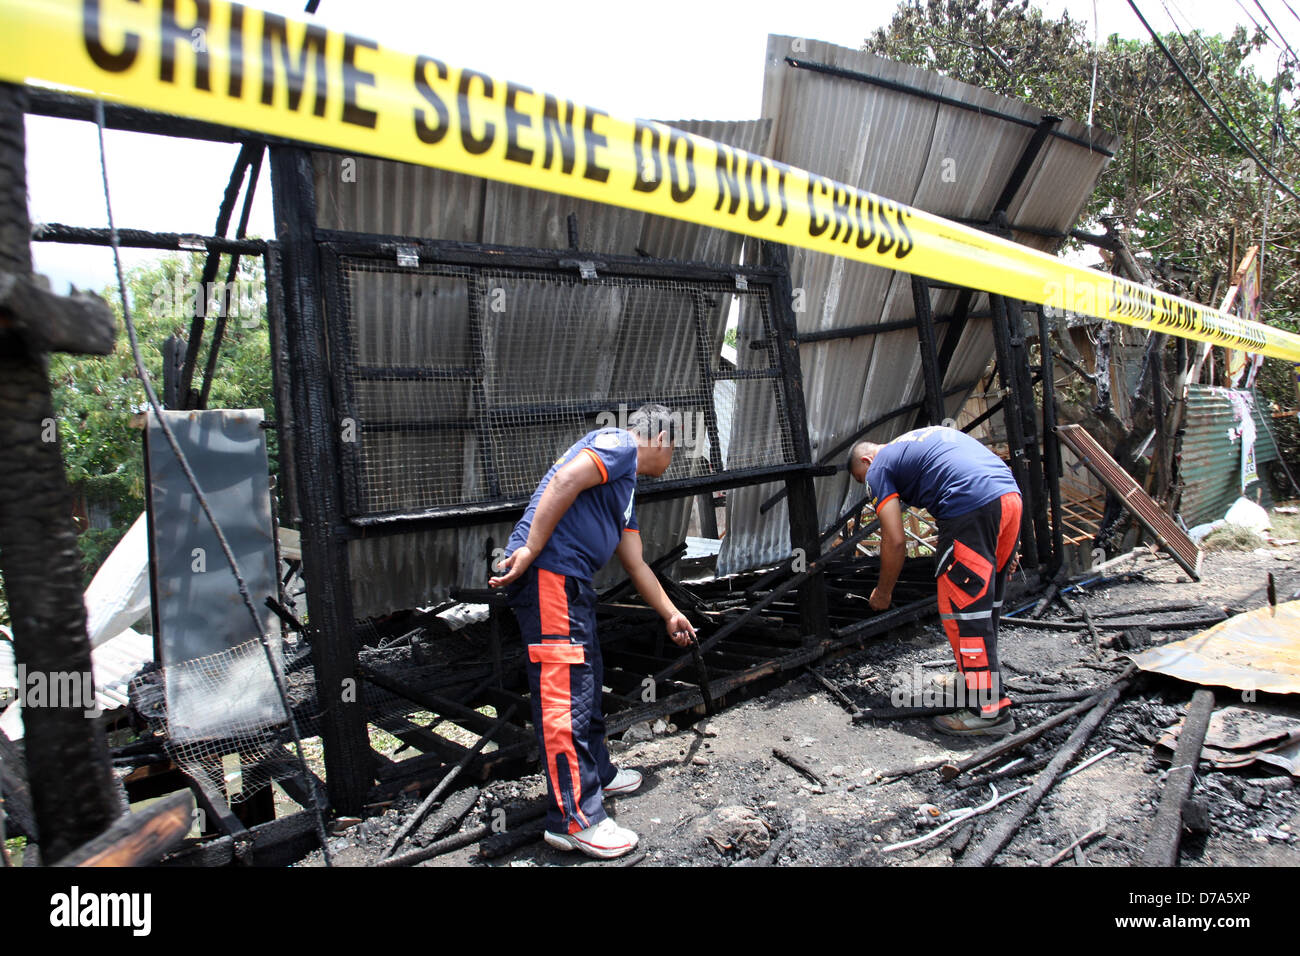
<path fill-rule="evenodd" d="M 573 834 L 604 819 L 601 788 L 618 774 L 604 744 L 595 600 L 589 581 L 536 566 L 511 596 L 526 652 L 551 832 Z"/>

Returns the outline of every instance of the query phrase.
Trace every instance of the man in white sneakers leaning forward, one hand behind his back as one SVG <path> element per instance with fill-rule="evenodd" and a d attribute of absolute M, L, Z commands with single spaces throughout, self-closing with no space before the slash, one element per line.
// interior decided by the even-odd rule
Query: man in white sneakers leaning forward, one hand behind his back
<path fill-rule="evenodd" d="M 603 808 L 603 797 L 637 790 L 641 774 L 618 770 L 604 744 L 592 576 L 618 554 L 673 643 L 685 646 L 694 636 L 646 564 L 636 519 L 637 476 L 668 470 L 675 424 L 664 406 L 645 405 L 628 418 L 628 431 L 601 428 L 575 442 L 537 485 L 510 536 L 510 554 L 489 581 L 511 585 L 528 648 L 533 727 L 550 797 L 546 842 L 559 849 L 610 858 L 637 845 L 637 835 Z"/>

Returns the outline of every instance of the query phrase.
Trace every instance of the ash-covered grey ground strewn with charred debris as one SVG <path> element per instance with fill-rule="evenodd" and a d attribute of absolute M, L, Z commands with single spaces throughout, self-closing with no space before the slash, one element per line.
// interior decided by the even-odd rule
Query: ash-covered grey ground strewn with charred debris
<path fill-rule="evenodd" d="M 1140 572 L 1144 580 L 1076 596 L 1076 604 L 1092 613 L 1192 601 L 1249 610 L 1265 602 L 1269 572 L 1278 600 L 1300 589 L 1300 545 L 1206 553 L 1200 581 L 1191 581 L 1164 557 L 1145 557 L 1118 570 Z M 1057 620 L 1066 617 L 1057 605 L 1045 615 Z M 1176 615 L 1165 615 L 1170 617 Z M 1186 617 L 1205 614 L 1188 611 Z M 1156 631 L 1150 636 L 1164 643 L 1196 630 Z M 1106 637 L 1114 633 L 1102 631 Z M 1108 648 L 1100 661 L 1095 658 L 1087 632 L 1039 631 L 1009 622 L 1004 624 L 1001 652 L 1011 687 L 1031 692 L 1098 687 L 1113 680 L 1126 663 L 1122 650 Z M 926 666 L 932 662 L 950 662 L 946 639 L 933 619 L 823 662 L 820 670 L 866 708 L 888 705 L 890 688 L 900 682 L 910 687 L 918 671 L 928 678 L 946 669 Z M 1091 843 L 1083 857 L 1071 856 L 1060 865 L 1136 862 L 1147 844 L 1167 766 L 1157 760 L 1154 741 L 1182 719 L 1193 689 L 1174 679 L 1143 676 L 1093 735 L 1080 760 L 1115 749 L 1050 791 L 997 857 L 997 865 L 1043 865 L 1097 827 L 1105 829 L 1105 836 Z M 1239 692 L 1219 691 L 1218 704 L 1240 702 L 1239 697 Z M 1295 697 L 1271 697 L 1269 702 L 1300 717 Z M 1017 721 L 1026 727 L 1065 706 L 1069 704 L 1017 706 Z M 1020 754 L 1049 757 L 1072 726 L 1048 734 Z M 959 862 L 961 852 L 974 847 L 1015 804 L 1004 804 L 915 848 L 887 852 L 893 843 L 928 832 L 930 827 L 918 825 L 920 805 L 932 804 L 940 810 L 974 806 L 985 803 L 991 791 L 987 786 L 958 790 L 941 782 L 935 771 L 894 782 L 881 782 L 881 773 L 961 758 L 989 740 L 945 737 L 928 719 L 919 718 L 855 724 L 845 708 L 807 675 L 690 727 L 668 726 L 660 731 L 636 743 L 611 741 L 615 761 L 646 777 L 640 792 L 610 801 L 618 822 L 640 834 L 645 851 L 641 866 L 754 865 L 763 847 L 779 838 L 788 838 L 776 858 L 779 865 L 948 866 Z M 810 782 L 777 760 L 774 748 L 794 756 L 826 784 Z M 1008 760 L 989 766 L 1001 767 Z M 1035 777 L 998 780 L 997 786 L 1005 793 Z M 1210 830 L 1184 839 L 1180 865 L 1300 865 L 1300 791 L 1295 783 L 1291 778 L 1270 779 L 1254 767 L 1226 773 L 1202 763 L 1193 797 L 1208 806 Z M 543 792 L 536 774 L 489 783 L 463 826 L 480 826 L 493 819 L 495 808 L 517 808 Z M 404 801 L 338 834 L 332 840 L 335 865 L 373 864 L 413 805 L 413 800 Z M 744 808 L 744 813 L 728 808 Z M 748 829 L 737 819 L 748 821 Z M 420 839 L 417 831 L 412 848 Z M 304 862 L 318 865 L 320 855 Z M 494 860 L 484 860 L 476 844 L 422 865 L 614 864 L 559 852 L 533 839 Z"/>

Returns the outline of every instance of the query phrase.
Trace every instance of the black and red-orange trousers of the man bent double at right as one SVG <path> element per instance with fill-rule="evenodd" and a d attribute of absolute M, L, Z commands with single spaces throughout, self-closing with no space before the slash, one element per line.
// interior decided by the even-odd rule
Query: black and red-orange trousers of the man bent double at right
<path fill-rule="evenodd" d="M 958 704 L 982 717 L 997 717 L 1011 705 L 1002 692 L 997 622 L 1019 540 L 1015 492 L 939 523 L 939 617 L 963 678 Z"/>

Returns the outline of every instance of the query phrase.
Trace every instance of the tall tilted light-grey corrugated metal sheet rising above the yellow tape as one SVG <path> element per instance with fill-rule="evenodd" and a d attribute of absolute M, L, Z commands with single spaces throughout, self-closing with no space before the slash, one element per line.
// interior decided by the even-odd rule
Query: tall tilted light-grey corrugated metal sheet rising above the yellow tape
<path fill-rule="evenodd" d="M 989 114 L 940 104 L 852 78 L 838 78 L 785 62 L 786 56 L 826 64 L 1037 122 L 1041 111 L 994 96 L 965 83 L 883 60 L 871 53 L 816 40 L 770 36 L 763 83 L 763 116 L 774 121 L 772 159 L 802 166 L 859 189 L 954 219 L 987 220 L 1034 130 Z M 1066 120 L 1062 131 L 1088 137 L 1082 124 Z M 1117 139 L 1092 133 L 1093 142 L 1113 151 Z M 1105 168 L 1105 152 L 1062 139 L 1049 139 L 1008 209 L 1009 221 L 1065 232 L 1087 203 Z M 1028 233 L 1014 238 L 1052 251 L 1058 245 Z M 911 280 L 892 271 L 806 250 L 790 250 L 790 280 L 802 290 L 800 332 L 842 329 L 915 316 Z M 936 316 L 952 311 L 956 291 L 932 295 Z M 988 308 L 978 295 L 972 311 Z M 939 343 L 946 326 L 939 328 Z M 967 324 L 945 376 L 945 389 L 974 382 L 992 355 L 987 320 Z M 800 347 L 809 432 L 814 458 L 861 424 L 922 397 L 920 355 L 915 330 Z M 965 395 L 948 399 L 956 415 Z M 904 415 L 872 432 L 875 441 L 907 431 Z M 762 423 L 737 405 L 733 442 L 762 433 Z M 728 535 L 719 572 L 760 567 L 789 553 L 784 507 L 766 515 L 759 506 L 776 485 L 737 489 L 728 496 Z M 818 509 L 829 523 L 858 489 L 841 472 L 818 479 Z"/>

